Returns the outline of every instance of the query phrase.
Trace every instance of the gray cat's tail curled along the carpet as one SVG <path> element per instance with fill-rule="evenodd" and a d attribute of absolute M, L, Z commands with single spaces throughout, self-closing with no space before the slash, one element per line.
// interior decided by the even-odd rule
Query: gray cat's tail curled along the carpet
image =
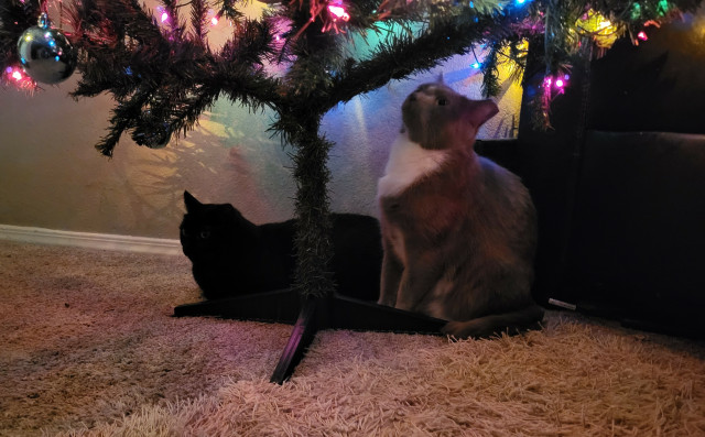
<path fill-rule="evenodd" d="M 441 330 L 456 339 L 488 338 L 507 332 L 514 335 L 529 329 L 540 329 L 543 308 L 531 304 L 509 313 L 492 314 L 465 321 L 448 321 Z"/>

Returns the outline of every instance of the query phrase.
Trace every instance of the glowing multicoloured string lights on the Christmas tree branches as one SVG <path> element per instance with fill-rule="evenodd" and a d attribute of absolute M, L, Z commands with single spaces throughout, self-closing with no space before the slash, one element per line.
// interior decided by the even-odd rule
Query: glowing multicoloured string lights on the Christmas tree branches
<path fill-rule="evenodd" d="M 355 6 L 354 1 L 349 1 L 352 6 Z M 23 12 L 32 12 L 34 11 L 33 2 L 25 0 L 11 0 L 11 3 L 15 3 L 23 9 Z M 57 0 L 57 4 L 59 4 L 59 10 L 63 11 L 63 0 Z M 165 1 L 164 6 L 159 6 L 156 8 L 156 14 L 159 17 L 159 22 L 169 23 L 174 18 L 170 17 L 169 10 L 176 10 L 177 8 L 182 8 L 185 6 L 192 6 L 192 1 L 186 3 L 177 4 L 174 1 Z M 203 4 L 203 1 L 197 1 L 195 4 Z M 216 26 L 224 14 L 228 14 L 229 17 L 235 18 L 236 20 L 241 19 L 242 14 L 235 7 L 235 1 L 220 1 L 218 3 L 219 8 L 204 8 L 207 11 L 207 17 L 203 18 L 204 21 L 207 21 L 212 26 Z M 276 1 L 271 1 L 271 3 L 275 7 L 280 4 Z M 294 35 L 297 37 L 303 30 L 305 30 L 311 23 L 316 20 L 321 21 L 323 24 L 319 26 L 322 32 L 334 32 L 334 33 L 345 33 L 345 28 L 347 23 L 350 21 L 351 15 L 348 12 L 348 1 L 345 0 L 311 0 L 308 3 L 308 20 L 307 23 L 302 26 L 302 29 Z M 557 9 L 557 11 L 552 11 L 550 13 L 550 9 L 552 4 L 557 4 L 558 2 L 554 1 L 539 1 L 539 0 L 512 0 L 510 2 L 507 1 L 486 1 L 486 0 L 476 0 L 469 1 L 468 7 L 470 10 L 477 10 L 479 12 L 491 12 L 491 13 L 500 13 L 500 14 L 511 14 L 514 15 L 514 25 L 513 31 L 517 34 L 525 34 L 532 33 L 541 30 L 545 30 L 547 25 L 547 17 L 555 15 L 556 12 L 564 17 L 560 17 L 556 29 L 552 29 L 551 33 L 553 35 L 552 40 L 558 41 L 555 45 L 564 45 L 564 46 L 573 46 L 565 50 L 565 54 L 570 55 L 575 52 L 576 42 L 579 44 L 585 37 L 589 37 L 595 46 L 598 48 L 597 55 L 604 53 L 604 50 L 608 50 L 614 42 L 621 36 L 626 31 L 629 31 L 633 34 L 632 41 L 634 44 L 638 44 L 639 41 L 647 41 L 648 35 L 644 30 L 638 30 L 638 25 L 648 26 L 648 25 L 659 25 L 660 21 L 665 21 L 672 19 L 674 15 L 682 13 L 683 10 L 692 10 L 696 3 L 696 1 L 684 1 L 684 2 L 675 2 L 668 0 L 642 0 L 642 1 L 633 1 L 629 2 L 628 7 L 623 7 L 625 2 L 616 2 L 616 4 L 622 6 L 621 9 L 609 8 L 609 2 L 600 2 L 601 10 L 595 10 L 592 8 L 592 2 L 589 1 L 563 1 L 563 6 Z M 681 3 L 681 4 L 679 4 Z M 440 6 L 441 4 L 441 6 Z M 441 10 L 441 13 L 458 13 L 458 7 L 449 7 L 445 3 L 431 2 L 426 0 L 419 1 L 393 1 L 393 0 L 383 0 L 380 4 L 370 11 L 369 18 L 365 20 L 359 20 L 361 23 L 369 23 L 370 20 L 375 22 L 383 21 L 386 19 L 405 19 L 409 18 L 411 20 L 420 20 L 420 21 L 429 21 L 430 17 L 433 14 L 438 15 L 437 10 Z M 46 10 L 46 1 L 37 1 L 37 6 L 40 10 Z M 299 9 L 303 9 L 303 0 L 299 2 Z M 607 8 L 606 8 L 607 7 Z M 462 7 L 460 7 L 462 8 Z M 281 8 L 280 8 L 281 9 Z M 291 9 L 291 8 L 290 8 Z M 6 15 L 8 12 L 12 12 L 11 8 L 3 8 Z M 571 14 L 575 14 L 575 11 L 582 12 L 581 17 L 578 17 L 572 25 L 570 23 Z M 17 11 L 14 11 L 17 13 Z M 408 17 L 404 17 L 408 14 Z M 475 20 L 478 20 L 476 17 Z M 354 20 L 355 21 L 355 20 Z M 567 22 L 566 22 L 567 21 Z M 4 21 L 3 21 L 4 22 Z M 555 20 L 553 20 L 555 22 Z M 14 21 L 14 24 L 20 24 L 18 21 Z M 7 36 L 9 30 L 6 24 L 2 25 L 3 32 L 0 34 L 0 37 Z M 554 26 L 555 28 L 555 26 Z M 17 30 L 15 30 L 17 31 Z M 292 35 L 286 35 L 284 37 L 291 37 Z M 489 52 L 497 52 L 498 45 L 506 45 L 508 41 L 511 41 L 512 35 L 489 35 L 487 37 L 487 44 L 490 44 L 495 48 Z M 276 35 L 278 40 L 282 39 L 282 35 Z M 514 39 L 516 40 L 516 39 Z M 3 45 L 8 45 L 6 42 Z M 286 45 L 286 44 L 284 44 Z M 555 55 L 547 54 L 546 57 L 551 57 Z M 4 53 L 3 62 L 2 62 L 2 81 L 4 84 L 12 84 L 19 88 L 24 89 L 33 89 L 39 86 L 36 80 L 32 79 L 32 75 L 28 75 L 28 68 L 22 65 L 18 65 L 18 63 L 10 63 L 13 58 L 11 53 Z M 21 59 L 20 59 L 21 61 Z M 516 58 L 513 59 L 519 64 L 519 67 L 522 67 L 522 59 Z M 546 64 L 555 64 L 556 61 L 546 61 Z M 557 61 L 557 63 L 564 64 L 566 67 L 570 65 L 565 59 Z M 21 63 L 20 63 L 21 64 Z M 476 56 L 476 62 L 473 63 L 471 67 L 476 69 L 482 69 L 485 74 L 492 74 L 487 67 L 487 63 L 484 63 Z M 491 65 L 491 63 L 489 64 Z M 68 68 L 67 68 L 68 69 Z M 565 68 L 563 68 L 565 69 Z M 553 76 L 562 76 L 561 78 L 554 78 Z M 545 84 L 552 84 L 554 88 L 561 91 L 566 85 L 567 81 L 565 79 L 565 72 L 560 70 L 560 68 L 555 68 L 551 65 L 546 68 L 546 78 L 549 80 Z M 44 80 L 39 80 L 44 81 Z M 556 84 L 563 84 L 558 86 Z M 491 88 L 491 87 L 490 87 Z M 546 89 L 551 87 L 545 87 Z"/>

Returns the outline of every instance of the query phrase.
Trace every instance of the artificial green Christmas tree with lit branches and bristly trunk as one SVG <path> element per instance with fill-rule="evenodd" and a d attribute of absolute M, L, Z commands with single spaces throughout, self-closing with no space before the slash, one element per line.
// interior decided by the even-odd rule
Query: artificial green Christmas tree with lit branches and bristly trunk
<path fill-rule="evenodd" d="M 532 65 L 544 66 L 533 117 L 536 125 L 549 129 L 551 100 L 570 86 L 576 56 L 599 55 L 616 35 L 629 34 L 638 42 L 644 25 L 677 18 L 701 1 L 302 0 L 271 2 L 262 18 L 251 20 L 234 0 L 220 0 L 213 2 L 217 12 L 210 20 L 230 20 L 232 36 L 218 51 L 208 44 L 205 0 L 164 0 L 156 13 L 135 0 L 59 3 L 65 33 L 78 51 L 80 80 L 72 96 L 109 92 L 117 102 L 110 129 L 96 145 L 101 153 L 111 155 L 123 133 L 140 145 L 164 146 L 172 135 L 193 129 L 223 97 L 252 110 L 274 111 L 272 133 L 294 150 L 296 293 L 305 297 L 302 317 L 311 321 L 315 313 L 330 310 L 318 306 L 330 304 L 334 292 L 326 269 L 332 256 L 326 166 L 332 143 L 319 133 L 326 112 L 391 79 L 465 53 L 476 54 L 484 91 L 491 96 L 499 89 L 498 64 L 516 63 L 521 77 L 532 55 L 539 57 L 529 59 Z M 46 8 L 46 1 L 32 0 L 0 6 L 6 84 L 37 87 L 23 74 L 17 45 Z M 183 8 L 189 20 L 182 18 Z M 356 40 L 358 45 L 370 42 L 367 54 L 359 54 Z M 283 65 L 285 73 L 275 73 L 271 65 Z M 437 325 L 424 323 L 430 329 Z"/>

